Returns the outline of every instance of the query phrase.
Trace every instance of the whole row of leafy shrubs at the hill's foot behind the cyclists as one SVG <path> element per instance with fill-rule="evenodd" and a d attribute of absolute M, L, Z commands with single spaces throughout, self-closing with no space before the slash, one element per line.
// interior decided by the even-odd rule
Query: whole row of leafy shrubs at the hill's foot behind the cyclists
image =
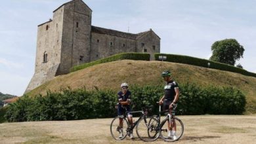
<path fill-rule="evenodd" d="M 130 90 L 133 111 L 153 105 L 152 114 L 158 112 L 156 101 L 163 96 L 163 86 L 131 86 Z M 234 115 L 245 111 L 245 96 L 234 88 L 181 84 L 180 90 L 177 115 Z M 112 90 L 66 89 L 58 93 L 48 92 L 47 96 L 22 96 L 9 105 L 5 118 L 9 122 L 22 122 L 115 117 L 116 103 L 117 92 Z"/>

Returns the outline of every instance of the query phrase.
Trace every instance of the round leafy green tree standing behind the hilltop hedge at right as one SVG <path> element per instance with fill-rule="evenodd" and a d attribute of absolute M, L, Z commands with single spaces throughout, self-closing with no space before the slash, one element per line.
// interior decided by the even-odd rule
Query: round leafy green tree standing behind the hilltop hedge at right
<path fill-rule="evenodd" d="M 244 46 L 240 45 L 236 39 L 224 39 L 213 43 L 211 51 L 213 55 L 210 60 L 234 65 L 236 60 L 243 58 Z"/>

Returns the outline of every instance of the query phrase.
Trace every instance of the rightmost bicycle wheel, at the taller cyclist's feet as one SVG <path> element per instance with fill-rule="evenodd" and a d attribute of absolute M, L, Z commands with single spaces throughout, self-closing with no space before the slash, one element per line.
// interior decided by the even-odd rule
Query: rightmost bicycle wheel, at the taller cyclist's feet
<path fill-rule="evenodd" d="M 171 130 L 175 130 L 174 125 L 176 124 L 176 135 L 174 136 L 173 134 L 168 135 L 169 128 Z M 169 127 L 169 128 L 168 128 Z M 169 122 L 169 117 L 165 118 L 163 122 L 161 122 L 161 131 L 160 131 L 160 137 L 164 141 L 178 141 L 182 134 L 184 132 L 184 126 L 182 121 L 177 118 L 177 117 L 172 117 L 171 118 L 171 125 Z"/>

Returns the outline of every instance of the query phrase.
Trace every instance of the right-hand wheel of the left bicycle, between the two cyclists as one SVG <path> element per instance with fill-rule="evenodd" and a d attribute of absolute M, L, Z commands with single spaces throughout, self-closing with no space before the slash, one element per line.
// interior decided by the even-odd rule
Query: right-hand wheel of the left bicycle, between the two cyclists
<path fill-rule="evenodd" d="M 160 123 L 154 117 L 141 118 L 136 126 L 136 132 L 142 141 L 155 141 L 160 136 Z"/>

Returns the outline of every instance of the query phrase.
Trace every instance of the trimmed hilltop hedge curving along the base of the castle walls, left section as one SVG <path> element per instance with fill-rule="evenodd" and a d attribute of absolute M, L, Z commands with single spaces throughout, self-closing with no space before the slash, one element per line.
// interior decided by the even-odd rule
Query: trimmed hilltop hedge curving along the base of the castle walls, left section
<path fill-rule="evenodd" d="M 94 62 L 90 62 L 90 63 L 84 63 L 81 65 L 77 65 L 72 67 L 72 69 L 70 71 L 78 71 L 79 69 L 84 69 L 86 67 L 90 67 L 92 65 L 96 65 L 99 63 L 106 63 L 106 62 L 113 62 L 113 61 L 117 61 L 117 60 L 150 60 L 150 54 L 144 54 L 144 53 L 135 53 L 135 52 L 131 52 L 131 53 L 121 53 L 121 54 L 116 54 L 107 58 L 102 58 L 100 60 L 96 60 Z"/>

